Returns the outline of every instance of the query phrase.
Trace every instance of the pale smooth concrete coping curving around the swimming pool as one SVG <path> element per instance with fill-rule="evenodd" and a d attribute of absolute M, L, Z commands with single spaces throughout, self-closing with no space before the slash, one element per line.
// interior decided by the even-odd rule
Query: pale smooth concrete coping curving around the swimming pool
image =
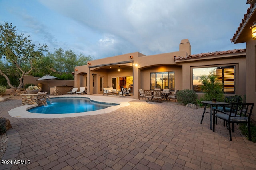
<path fill-rule="evenodd" d="M 78 98 L 78 96 L 70 96 L 70 95 L 61 95 L 61 96 L 51 96 L 52 98 L 66 98 L 66 97 L 74 97 Z M 81 112 L 81 113 L 66 113 L 66 114 L 41 114 L 41 113 L 31 113 L 27 110 L 36 107 L 38 105 L 23 105 L 20 107 L 16 107 L 14 109 L 11 109 L 8 111 L 9 115 L 11 117 L 16 118 L 66 118 L 66 117 L 78 117 L 78 116 L 87 116 L 87 115 L 98 115 L 98 114 L 104 114 L 104 113 L 110 113 L 112 111 L 115 111 L 121 107 L 130 105 L 130 101 L 136 100 L 134 98 L 115 98 L 115 97 L 107 97 L 107 96 L 91 96 L 91 95 L 79 95 L 79 98 L 90 98 L 90 100 L 96 101 L 96 102 L 104 102 L 104 103 L 115 103 L 118 105 L 114 105 L 111 107 L 108 107 L 106 109 L 100 109 L 95 111 L 88 111 L 88 112 Z"/>

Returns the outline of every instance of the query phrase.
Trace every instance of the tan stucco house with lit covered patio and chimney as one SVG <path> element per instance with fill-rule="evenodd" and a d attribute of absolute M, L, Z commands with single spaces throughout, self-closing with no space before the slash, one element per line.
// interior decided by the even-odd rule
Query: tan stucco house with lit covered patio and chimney
<path fill-rule="evenodd" d="M 252 26 L 252 18 L 256 18 L 256 12 L 252 10 L 255 11 L 255 4 L 248 9 L 232 40 L 234 43 L 247 42 L 246 49 L 192 55 L 189 40 L 183 39 L 179 51 L 157 55 L 134 52 L 77 66 L 74 86 L 86 87 L 88 94 L 103 93 L 104 87 L 117 90 L 120 90 L 120 86 L 132 87 L 134 98 L 139 97 L 138 89 L 154 88 L 169 88 L 173 91 L 193 89 L 200 96 L 203 93 L 198 76 L 215 70 L 226 95 L 246 95 L 247 102 L 256 103 L 256 41 L 251 40 L 248 29 Z"/>

